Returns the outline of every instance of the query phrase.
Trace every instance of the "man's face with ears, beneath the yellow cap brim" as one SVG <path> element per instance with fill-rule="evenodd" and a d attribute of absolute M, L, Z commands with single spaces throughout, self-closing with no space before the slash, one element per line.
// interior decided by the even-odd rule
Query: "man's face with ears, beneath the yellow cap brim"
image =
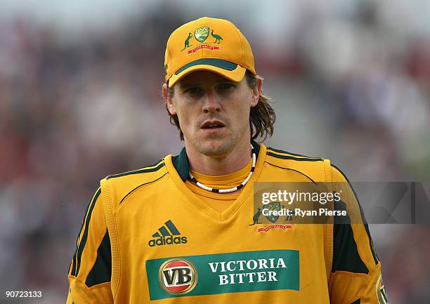
<path fill-rule="evenodd" d="M 169 112 L 177 114 L 187 151 L 226 157 L 240 145 L 249 145 L 249 111 L 259 99 L 244 77 L 230 81 L 219 74 L 197 71 L 174 85 L 174 95 L 164 98 Z"/>

